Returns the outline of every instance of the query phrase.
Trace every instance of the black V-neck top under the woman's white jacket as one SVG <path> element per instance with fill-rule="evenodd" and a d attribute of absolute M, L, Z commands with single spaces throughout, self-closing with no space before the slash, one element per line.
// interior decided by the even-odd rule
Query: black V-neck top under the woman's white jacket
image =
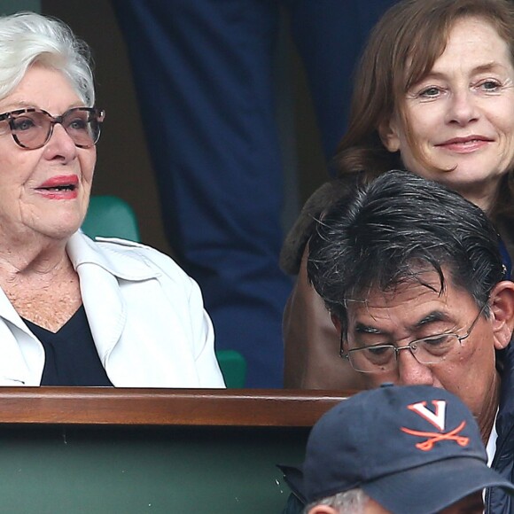
<path fill-rule="evenodd" d="M 83 306 L 55 333 L 23 321 L 44 347 L 41 385 L 113 386 L 98 357 Z"/>

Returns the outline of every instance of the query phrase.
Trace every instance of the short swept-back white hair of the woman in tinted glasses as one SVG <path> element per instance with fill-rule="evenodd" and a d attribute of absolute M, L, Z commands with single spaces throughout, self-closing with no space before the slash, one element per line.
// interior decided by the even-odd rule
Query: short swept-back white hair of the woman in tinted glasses
<path fill-rule="evenodd" d="M 90 49 L 66 23 L 35 12 L 0 17 L 0 99 L 35 64 L 64 74 L 84 105 L 95 104 Z"/>

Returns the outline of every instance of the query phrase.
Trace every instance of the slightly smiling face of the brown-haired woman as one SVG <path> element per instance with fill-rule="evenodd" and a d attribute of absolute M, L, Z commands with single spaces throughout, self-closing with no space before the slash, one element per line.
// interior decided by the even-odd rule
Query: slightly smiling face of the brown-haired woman
<path fill-rule="evenodd" d="M 396 116 L 382 130 L 386 148 L 400 151 L 410 171 L 490 207 L 514 160 L 514 66 L 495 27 L 459 19 L 430 74 L 403 102 L 408 128 Z"/>

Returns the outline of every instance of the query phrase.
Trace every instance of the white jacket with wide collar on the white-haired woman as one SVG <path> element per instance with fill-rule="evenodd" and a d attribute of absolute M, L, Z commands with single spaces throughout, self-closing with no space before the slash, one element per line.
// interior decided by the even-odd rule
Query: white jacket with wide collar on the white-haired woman
<path fill-rule="evenodd" d="M 76 269 L 91 333 L 117 387 L 224 387 L 199 286 L 163 253 L 75 233 Z M 40 385 L 42 344 L 0 290 L 0 385 Z"/>

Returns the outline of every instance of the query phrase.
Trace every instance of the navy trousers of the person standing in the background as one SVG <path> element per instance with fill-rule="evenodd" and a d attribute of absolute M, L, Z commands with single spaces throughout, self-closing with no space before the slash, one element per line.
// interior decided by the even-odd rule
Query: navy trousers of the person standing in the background
<path fill-rule="evenodd" d="M 393 0 L 113 0 L 157 174 L 167 238 L 200 284 L 217 348 L 247 385 L 282 384 L 283 169 L 273 63 L 284 4 L 330 158 L 354 61 Z M 335 357 L 337 358 L 337 356 Z"/>

